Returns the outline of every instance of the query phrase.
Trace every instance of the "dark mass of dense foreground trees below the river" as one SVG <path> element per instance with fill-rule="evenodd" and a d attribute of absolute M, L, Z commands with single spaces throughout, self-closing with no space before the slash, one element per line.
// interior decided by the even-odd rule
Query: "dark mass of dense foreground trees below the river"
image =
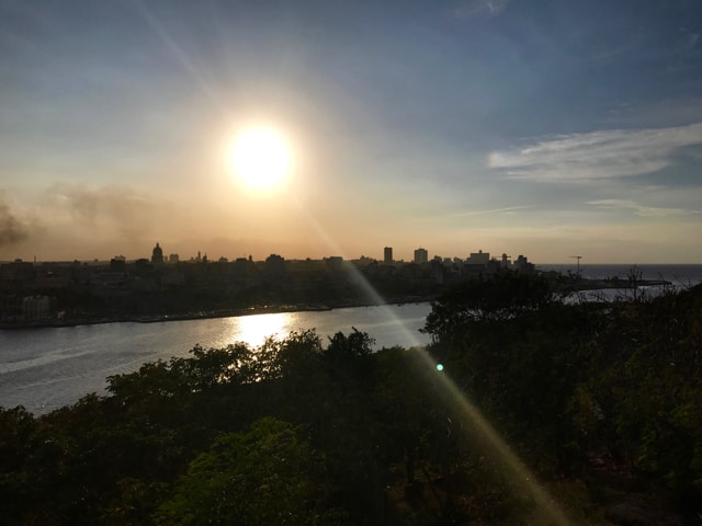
<path fill-rule="evenodd" d="M 544 524 L 480 414 L 576 523 L 631 523 L 608 510 L 634 495 L 641 524 L 702 512 L 702 287 L 566 304 L 498 274 L 424 330 L 195 347 L 41 418 L 0 409 L 0 523 Z"/>

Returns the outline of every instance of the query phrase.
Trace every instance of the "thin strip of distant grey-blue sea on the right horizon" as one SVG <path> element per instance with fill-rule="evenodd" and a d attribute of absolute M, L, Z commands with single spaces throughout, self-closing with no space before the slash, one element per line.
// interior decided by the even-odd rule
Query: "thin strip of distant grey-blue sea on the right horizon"
<path fill-rule="evenodd" d="M 702 264 L 689 265 L 623 265 L 623 264 L 580 264 L 582 277 L 602 279 L 607 277 L 626 278 L 631 270 L 636 266 L 642 273 L 643 279 L 665 279 L 676 286 L 693 286 L 702 283 Z M 576 264 L 536 264 L 540 271 L 556 271 L 563 274 L 577 272 Z"/>

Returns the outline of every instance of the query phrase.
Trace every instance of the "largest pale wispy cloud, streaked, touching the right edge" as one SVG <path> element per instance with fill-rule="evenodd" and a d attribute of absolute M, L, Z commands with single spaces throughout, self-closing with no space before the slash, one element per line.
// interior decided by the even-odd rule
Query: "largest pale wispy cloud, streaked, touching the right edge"
<path fill-rule="evenodd" d="M 702 123 L 564 135 L 519 150 L 490 153 L 488 165 L 511 179 L 589 182 L 654 173 L 680 148 L 702 144 Z"/>

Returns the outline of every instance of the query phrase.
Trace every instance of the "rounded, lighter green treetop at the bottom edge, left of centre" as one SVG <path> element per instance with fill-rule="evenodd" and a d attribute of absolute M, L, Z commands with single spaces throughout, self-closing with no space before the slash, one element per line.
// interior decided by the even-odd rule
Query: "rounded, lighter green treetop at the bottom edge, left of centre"
<path fill-rule="evenodd" d="M 325 508 L 322 457 L 287 422 L 263 418 L 197 456 L 156 514 L 162 525 L 340 524 Z M 333 517 L 337 519 L 333 519 Z"/>

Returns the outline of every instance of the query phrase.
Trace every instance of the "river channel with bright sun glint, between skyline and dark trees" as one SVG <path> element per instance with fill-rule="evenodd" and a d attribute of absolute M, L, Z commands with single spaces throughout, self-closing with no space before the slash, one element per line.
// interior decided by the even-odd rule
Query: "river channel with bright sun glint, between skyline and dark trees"
<path fill-rule="evenodd" d="M 418 331 L 429 304 L 375 306 L 320 312 L 285 312 L 158 323 L 104 323 L 0 331 L 0 405 L 24 405 L 34 414 L 104 393 L 105 378 L 146 362 L 188 356 L 194 345 L 224 347 L 267 336 L 316 329 L 324 340 L 352 327 L 375 339 L 376 348 L 429 342 Z"/>

